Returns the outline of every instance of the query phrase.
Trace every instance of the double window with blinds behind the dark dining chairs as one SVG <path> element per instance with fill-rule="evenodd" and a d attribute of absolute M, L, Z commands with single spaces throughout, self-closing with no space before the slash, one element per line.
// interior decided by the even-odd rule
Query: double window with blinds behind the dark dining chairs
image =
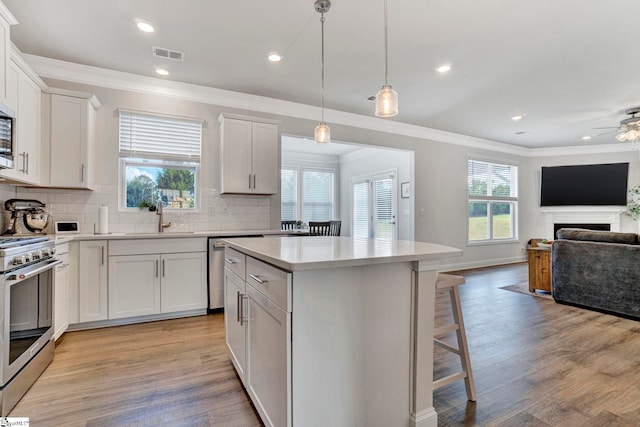
<path fill-rule="evenodd" d="M 283 221 L 329 221 L 336 212 L 333 169 L 285 166 L 280 171 Z"/>

